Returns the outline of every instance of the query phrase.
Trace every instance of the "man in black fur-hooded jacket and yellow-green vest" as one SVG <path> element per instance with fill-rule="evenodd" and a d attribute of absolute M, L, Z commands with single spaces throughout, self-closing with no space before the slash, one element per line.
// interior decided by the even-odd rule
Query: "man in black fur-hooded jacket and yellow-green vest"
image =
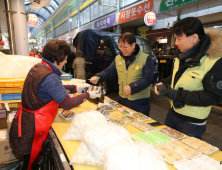
<path fill-rule="evenodd" d="M 178 47 L 171 76 L 155 86 L 171 108 L 165 124 L 201 139 L 211 106 L 222 101 L 222 31 L 204 31 L 198 18 L 177 22 L 172 30 Z"/>

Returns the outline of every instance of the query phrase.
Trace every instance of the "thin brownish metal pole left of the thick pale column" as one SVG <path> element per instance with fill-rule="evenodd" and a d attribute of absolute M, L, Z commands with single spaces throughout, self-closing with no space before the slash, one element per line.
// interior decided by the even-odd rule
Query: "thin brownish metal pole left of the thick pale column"
<path fill-rule="evenodd" d="M 11 11 L 11 1 L 5 0 L 5 9 L 6 11 Z M 8 25 L 8 34 L 9 34 L 9 44 L 10 44 L 10 50 L 11 54 L 16 54 L 16 46 L 15 46 L 15 34 L 14 34 L 14 26 L 13 26 L 13 20 L 10 12 L 6 12 L 6 18 L 7 18 L 7 25 Z"/>

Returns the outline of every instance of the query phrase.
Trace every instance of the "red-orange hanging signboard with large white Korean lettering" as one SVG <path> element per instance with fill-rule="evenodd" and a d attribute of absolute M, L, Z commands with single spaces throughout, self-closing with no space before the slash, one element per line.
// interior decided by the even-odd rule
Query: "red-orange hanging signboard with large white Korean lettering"
<path fill-rule="evenodd" d="M 132 21 L 138 18 L 143 18 L 147 12 L 152 11 L 153 0 L 148 0 L 139 5 L 125 9 L 119 13 L 119 24 Z"/>

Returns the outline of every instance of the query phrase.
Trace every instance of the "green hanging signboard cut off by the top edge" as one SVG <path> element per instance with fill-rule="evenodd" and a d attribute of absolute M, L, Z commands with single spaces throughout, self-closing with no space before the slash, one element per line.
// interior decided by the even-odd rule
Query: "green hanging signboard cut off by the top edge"
<path fill-rule="evenodd" d="M 160 4 L 160 12 L 179 8 L 185 5 L 193 4 L 202 0 L 162 0 Z"/>

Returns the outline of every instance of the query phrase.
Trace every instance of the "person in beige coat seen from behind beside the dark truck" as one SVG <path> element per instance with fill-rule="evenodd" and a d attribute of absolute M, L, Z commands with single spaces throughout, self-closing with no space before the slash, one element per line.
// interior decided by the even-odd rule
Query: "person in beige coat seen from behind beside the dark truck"
<path fill-rule="evenodd" d="M 75 78 L 86 79 L 85 73 L 85 59 L 83 58 L 83 53 L 81 50 L 75 52 L 76 59 L 73 61 L 72 68 L 75 70 Z"/>

